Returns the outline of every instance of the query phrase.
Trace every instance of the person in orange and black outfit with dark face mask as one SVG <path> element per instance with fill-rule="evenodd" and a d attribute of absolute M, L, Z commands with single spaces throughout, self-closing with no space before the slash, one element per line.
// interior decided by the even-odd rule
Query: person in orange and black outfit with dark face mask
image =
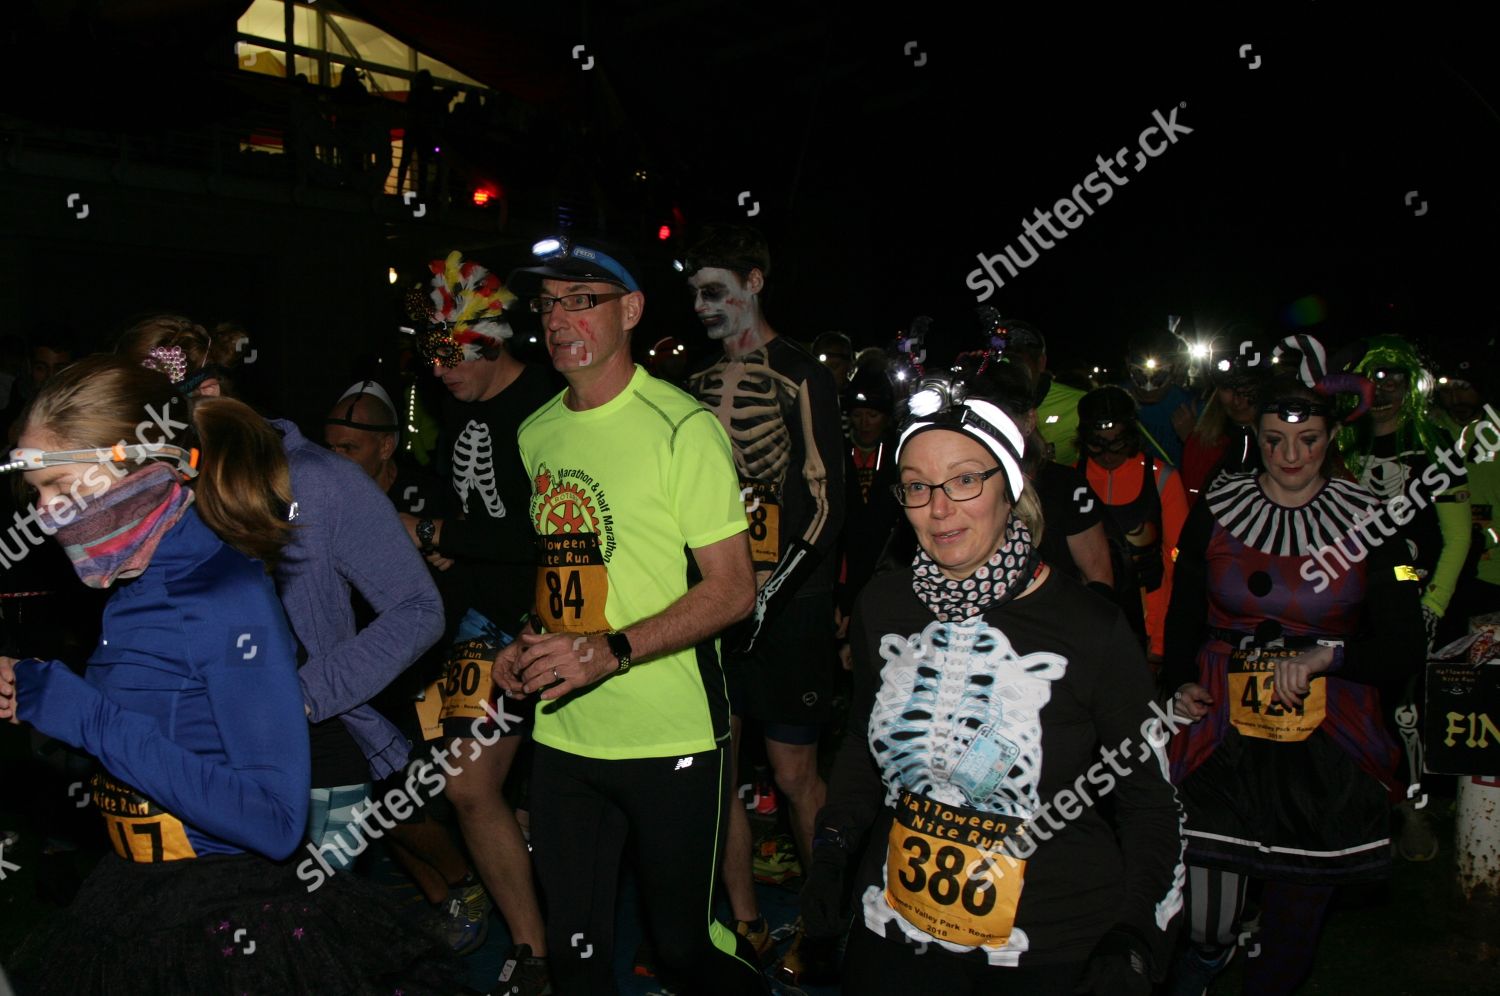
<path fill-rule="evenodd" d="M 1161 660 L 1162 624 L 1172 600 L 1172 552 L 1188 518 L 1182 476 L 1156 456 L 1143 453 L 1136 404 L 1119 387 L 1101 387 L 1078 402 L 1080 470 L 1108 513 L 1112 543 L 1122 546 L 1114 582 L 1124 600 L 1138 585 L 1148 652 Z M 1134 579 L 1134 580 L 1131 580 Z M 1140 618 L 1122 606 L 1125 618 Z"/>

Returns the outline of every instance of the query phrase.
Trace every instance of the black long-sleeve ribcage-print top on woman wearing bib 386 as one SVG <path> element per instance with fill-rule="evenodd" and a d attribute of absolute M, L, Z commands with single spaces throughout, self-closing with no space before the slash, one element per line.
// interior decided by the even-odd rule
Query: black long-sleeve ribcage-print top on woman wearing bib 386
<path fill-rule="evenodd" d="M 994 792 L 975 807 L 1028 816 L 1035 843 L 1010 942 L 987 956 L 970 950 L 960 957 L 990 964 L 1082 962 L 1106 930 L 1126 924 L 1148 939 L 1160 972 L 1182 908 L 1185 872 L 1180 808 L 1167 782 L 1166 734 L 1155 718 L 1140 644 L 1119 609 L 1058 573 L 1032 594 L 986 612 L 984 624 L 993 628 L 981 627 L 982 639 L 966 644 L 972 630 L 938 622 L 914 594 L 910 572 L 876 576 L 855 608 L 854 705 L 819 826 L 854 838 L 870 828 L 856 879 L 866 926 L 884 933 L 873 921 L 894 915 L 880 891 L 898 789 L 924 777 L 940 782 L 926 758 L 918 756 L 915 766 L 909 756 L 898 766 L 878 760 L 872 723 L 878 742 L 900 740 L 910 747 L 910 729 L 890 738 L 892 708 L 912 716 L 912 706 L 902 704 L 914 674 L 954 674 L 970 687 L 993 690 L 988 714 L 974 722 L 1022 744 Z M 960 644 L 974 650 L 958 654 L 952 648 Z M 1046 693 L 1046 704 L 1028 710 L 1038 693 Z M 948 700 L 939 696 L 939 705 Z M 922 722 L 908 723 L 914 724 Z M 946 747 L 950 765 L 954 747 Z M 1110 820 L 1101 813 L 1104 796 Z M 903 934 L 921 944 L 904 922 L 897 924 Z M 1024 934 L 1024 950 L 1017 934 Z"/>

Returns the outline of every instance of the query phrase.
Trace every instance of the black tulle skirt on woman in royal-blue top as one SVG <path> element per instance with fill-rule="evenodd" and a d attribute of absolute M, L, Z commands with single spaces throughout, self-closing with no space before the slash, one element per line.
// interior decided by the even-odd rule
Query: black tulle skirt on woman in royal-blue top
<path fill-rule="evenodd" d="M 302 852 L 298 850 L 298 856 Z M 442 939 L 351 874 L 316 890 L 292 861 L 208 855 L 135 864 L 114 854 L 10 966 L 16 996 L 452 996 Z"/>

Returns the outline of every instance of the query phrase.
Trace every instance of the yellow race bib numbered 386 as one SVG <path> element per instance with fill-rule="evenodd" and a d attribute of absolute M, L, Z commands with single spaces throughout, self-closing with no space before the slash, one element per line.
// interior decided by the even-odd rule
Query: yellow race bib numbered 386
<path fill-rule="evenodd" d="M 885 898 L 906 922 L 964 946 L 1002 946 L 1026 862 L 1004 854 L 1026 820 L 902 792 L 885 855 Z"/>

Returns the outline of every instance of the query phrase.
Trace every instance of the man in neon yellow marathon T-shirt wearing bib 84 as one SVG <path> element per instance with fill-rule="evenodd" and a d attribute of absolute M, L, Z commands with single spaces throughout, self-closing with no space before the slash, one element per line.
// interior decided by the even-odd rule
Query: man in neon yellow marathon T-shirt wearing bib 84
<path fill-rule="evenodd" d="M 729 801 L 714 636 L 756 596 L 729 436 L 630 360 L 645 296 L 618 249 L 552 238 L 510 286 L 542 315 L 567 390 L 520 426 L 540 537 L 536 620 L 494 678 L 540 694 L 531 828 L 555 992 L 615 992 L 626 840 L 663 974 L 765 993 L 712 920 Z M 528 627 L 528 630 L 532 627 Z"/>

